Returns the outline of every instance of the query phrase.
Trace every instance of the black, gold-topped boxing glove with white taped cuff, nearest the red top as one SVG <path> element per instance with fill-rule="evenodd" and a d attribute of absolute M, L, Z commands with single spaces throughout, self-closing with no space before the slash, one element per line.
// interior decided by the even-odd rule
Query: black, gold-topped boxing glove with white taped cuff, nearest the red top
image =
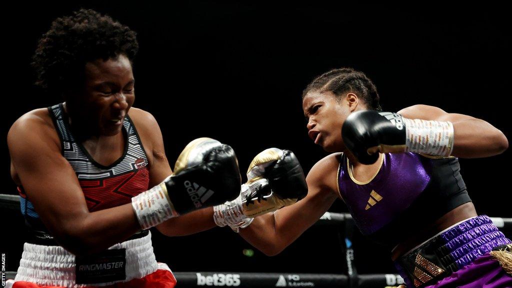
<path fill-rule="evenodd" d="M 190 142 L 174 175 L 132 198 L 137 219 L 148 229 L 168 218 L 224 203 L 240 193 L 240 171 L 233 149 L 210 138 Z"/>

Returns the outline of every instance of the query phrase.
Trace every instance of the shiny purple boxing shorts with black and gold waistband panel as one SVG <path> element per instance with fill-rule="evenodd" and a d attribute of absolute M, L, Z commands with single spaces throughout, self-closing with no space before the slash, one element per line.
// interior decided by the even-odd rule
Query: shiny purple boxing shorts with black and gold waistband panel
<path fill-rule="evenodd" d="M 401 256 L 395 265 L 408 287 L 508 287 L 512 276 L 489 254 L 511 241 L 481 215 Z"/>

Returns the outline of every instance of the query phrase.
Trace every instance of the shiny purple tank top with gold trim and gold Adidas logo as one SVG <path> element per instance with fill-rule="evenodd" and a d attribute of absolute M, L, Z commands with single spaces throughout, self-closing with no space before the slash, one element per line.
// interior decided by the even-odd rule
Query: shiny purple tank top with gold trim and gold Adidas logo
<path fill-rule="evenodd" d="M 431 176 L 420 157 L 383 154 L 379 171 L 367 182 L 353 178 L 347 157 L 340 157 L 339 192 L 362 234 L 372 234 L 390 223 L 423 192 Z"/>

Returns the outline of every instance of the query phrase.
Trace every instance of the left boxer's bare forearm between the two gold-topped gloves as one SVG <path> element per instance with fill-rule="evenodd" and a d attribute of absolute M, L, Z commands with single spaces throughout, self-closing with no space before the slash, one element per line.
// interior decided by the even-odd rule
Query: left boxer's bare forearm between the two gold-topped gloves
<path fill-rule="evenodd" d="M 179 217 L 170 218 L 157 226 L 166 236 L 186 236 L 216 227 L 214 209 L 209 207 Z"/>

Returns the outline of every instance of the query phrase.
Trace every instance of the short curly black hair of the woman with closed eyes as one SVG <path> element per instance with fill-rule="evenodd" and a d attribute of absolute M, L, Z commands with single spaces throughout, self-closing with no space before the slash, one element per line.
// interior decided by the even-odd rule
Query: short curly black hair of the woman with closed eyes
<path fill-rule="evenodd" d="M 32 57 L 36 85 L 62 96 L 76 89 L 89 61 L 107 60 L 120 54 L 132 61 L 139 44 L 129 27 L 90 9 L 55 19 L 39 39 Z"/>

